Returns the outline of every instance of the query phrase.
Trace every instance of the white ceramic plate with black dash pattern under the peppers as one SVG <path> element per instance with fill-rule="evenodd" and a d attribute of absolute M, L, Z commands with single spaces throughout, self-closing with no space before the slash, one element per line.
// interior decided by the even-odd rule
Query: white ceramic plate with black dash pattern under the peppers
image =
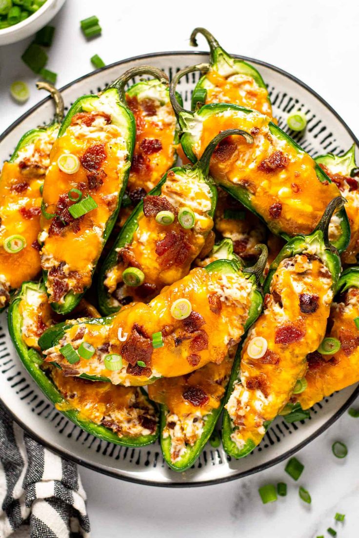
<path fill-rule="evenodd" d="M 173 52 L 137 56 L 81 77 L 62 88 L 67 107 L 79 96 L 100 91 L 130 67 L 153 65 L 172 75 L 178 69 L 207 61 L 205 53 Z M 313 90 L 280 69 L 257 60 L 249 60 L 259 69 L 268 83 L 274 116 L 280 127 L 286 129 L 285 118 L 291 110 L 302 109 L 308 118 L 304 137 L 295 139 L 313 157 L 329 151 L 347 150 L 354 134 L 329 105 Z M 184 77 L 178 90 L 189 107 L 191 90 L 198 73 Z M 0 160 L 9 158 L 22 134 L 38 125 L 48 123 L 53 115 L 50 98 L 41 101 L 7 129 L 0 138 Z M 311 419 L 287 424 L 281 417 L 274 421 L 261 445 L 247 458 L 231 459 L 222 448 L 208 444 L 192 469 L 176 473 L 163 461 L 159 442 L 141 449 L 119 447 L 105 443 L 87 434 L 61 415 L 46 400 L 43 393 L 22 367 L 11 343 L 6 325 L 6 314 L 0 316 L 0 394 L 3 404 L 14 419 L 29 433 L 53 450 L 91 469 L 108 475 L 158 486 L 199 486 L 240 478 L 278 463 L 302 448 L 322 433 L 343 412 L 359 393 L 351 386 L 316 404 Z"/>

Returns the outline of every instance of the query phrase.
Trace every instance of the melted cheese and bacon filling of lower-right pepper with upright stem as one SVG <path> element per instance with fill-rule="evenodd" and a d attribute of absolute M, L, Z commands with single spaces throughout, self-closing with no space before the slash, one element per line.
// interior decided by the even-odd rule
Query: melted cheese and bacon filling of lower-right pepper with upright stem
<path fill-rule="evenodd" d="M 233 441 L 243 448 L 265 433 L 291 397 L 295 383 L 307 370 L 306 356 L 325 335 L 333 293 L 330 273 L 318 258 L 297 254 L 278 266 L 266 296 L 263 314 L 252 325 L 243 344 L 240 381 L 226 405 L 235 427 Z M 251 358 L 248 346 L 262 337 L 268 349 Z"/>

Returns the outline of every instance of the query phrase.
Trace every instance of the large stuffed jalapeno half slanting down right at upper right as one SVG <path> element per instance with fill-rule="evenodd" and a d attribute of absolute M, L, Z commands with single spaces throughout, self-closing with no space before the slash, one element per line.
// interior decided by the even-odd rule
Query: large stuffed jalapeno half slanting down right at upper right
<path fill-rule="evenodd" d="M 224 139 L 213 153 L 210 174 L 245 207 L 258 215 L 276 235 L 285 239 L 309 235 L 330 200 L 340 194 L 318 164 L 294 140 L 257 111 L 234 104 L 204 105 L 196 112 L 184 110 L 174 98 L 181 76 L 201 70 L 203 65 L 177 73 L 170 86 L 171 102 L 182 130 L 181 145 L 195 162 L 214 134 L 225 129 L 243 129 L 252 134 Z M 206 65 L 204 66 L 207 69 Z M 335 215 L 341 233 L 334 245 L 346 249 L 349 221 L 344 208 Z"/>

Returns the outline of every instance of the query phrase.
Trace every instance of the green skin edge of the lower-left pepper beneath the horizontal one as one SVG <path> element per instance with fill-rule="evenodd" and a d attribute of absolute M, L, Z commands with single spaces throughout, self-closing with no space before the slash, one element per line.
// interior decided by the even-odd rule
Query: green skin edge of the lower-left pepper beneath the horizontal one
<path fill-rule="evenodd" d="M 116 433 L 109 428 L 105 428 L 104 426 L 96 424 L 95 422 L 83 417 L 78 410 L 66 409 L 68 401 L 62 396 L 50 377 L 46 375 L 45 371 L 41 370 L 40 368 L 40 364 L 43 362 L 40 354 L 38 356 L 38 362 L 34 362 L 31 356 L 29 356 L 29 351 L 31 348 L 25 344 L 22 338 L 22 318 L 19 312 L 19 305 L 26 293 L 27 288 L 31 288 L 39 292 L 45 291 L 45 287 L 41 283 L 24 282 L 18 294 L 10 304 L 8 313 L 8 327 L 12 342 L 15 345 L 16 351 L 22 360 L 23 365 L 25 366 L 27 372 L 29 372 L 32 379 L 36 381 L 37 385 L 40 387 L 41 391 L 43 391 L 45 396 L 52 402 L 52 404 L 57 406 L 57 409 L 60 410 L 60 412 L 65 415 L 67 419 L 74 422 L 76 426 L 79 426 L 79 428 L 103 441 L 123 445 L 124 447 L 144 447 L 145 445 L 156 441 L 159 435 L 159 426 L 157 427 L 156 433 L 152 435 L 143 435 L 136 438 L 118 437 L 118 435 L 116 435 Z M 65 323 L 61 323 L 60 325 L 62 325 L 62 327 L 66 327 Z M 56 325 L 56 327 L 58 327 L 58 325 Z M 146 394 L 144 391 L 142 392 Z M 63 410 L 61 410 L 61 406 L 64 406 Z"/>

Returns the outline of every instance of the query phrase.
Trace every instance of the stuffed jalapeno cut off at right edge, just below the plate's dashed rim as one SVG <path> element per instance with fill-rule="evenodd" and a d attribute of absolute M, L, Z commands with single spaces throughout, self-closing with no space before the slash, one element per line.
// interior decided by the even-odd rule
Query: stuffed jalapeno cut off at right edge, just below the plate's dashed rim
<path fill-rule="evenodd" d="M 350 243 L 342 253 L 343 264 L 357 263 L 359 253 L 359 170 L 355 164 L 355 145 L 350 150 L 336 157 L 333 153 L 316 157 L 316 162 L 337 185 L 342 196 L 347 200 L 346 211 L 350 223 Z M 329 229 L 330 240 L 337 239 L 337 227 Z"/>

